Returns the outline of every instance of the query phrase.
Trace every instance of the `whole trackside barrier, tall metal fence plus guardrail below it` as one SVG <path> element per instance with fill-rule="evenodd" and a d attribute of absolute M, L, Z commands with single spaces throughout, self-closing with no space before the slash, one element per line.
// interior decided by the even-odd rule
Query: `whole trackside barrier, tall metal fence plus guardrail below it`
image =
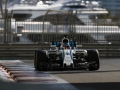
<path fill-rule="evenodd" d="M 84 16 L 84 18 L 83 18 Z M 54 14 L 38 18 L 0 19 L 0 59 L 33 59 L 34 50 L 50 49 L 50 42 L 68 35 L 82 49 L 98 49 L 100 57 L 120 57 L 120 19 Z"/>

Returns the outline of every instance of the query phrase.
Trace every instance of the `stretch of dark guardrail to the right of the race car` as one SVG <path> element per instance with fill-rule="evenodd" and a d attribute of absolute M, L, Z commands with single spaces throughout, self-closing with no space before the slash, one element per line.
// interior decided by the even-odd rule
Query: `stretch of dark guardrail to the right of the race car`
<path fill-rule="evenodd" d="M 83 49 L 97 49 L 100 58 L 119 58 L 120 45 L 119 44 L 84 44 Z"/>

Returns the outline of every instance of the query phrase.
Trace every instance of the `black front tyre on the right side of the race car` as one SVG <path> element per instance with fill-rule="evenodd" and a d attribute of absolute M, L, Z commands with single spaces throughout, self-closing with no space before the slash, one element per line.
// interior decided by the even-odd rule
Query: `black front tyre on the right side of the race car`
<path fill-rule="evenodd" d="M 89 63 L 89 71 L 98 70 L 100 68 L 99 53 L 97 50 L 87 50 L 87 61 Z"/>

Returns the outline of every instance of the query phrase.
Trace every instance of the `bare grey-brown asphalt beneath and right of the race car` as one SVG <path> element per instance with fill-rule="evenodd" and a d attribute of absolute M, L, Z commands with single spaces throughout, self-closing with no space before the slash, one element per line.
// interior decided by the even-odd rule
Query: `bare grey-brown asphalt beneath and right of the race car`
<path fill-rule="evenodd" d="M 33 61 L 24 61 L 33 66 Z M 100 59 L 98 71 L 67 70 L 48 71 L 79 90 L 120 90 L 120 59 Z"/>

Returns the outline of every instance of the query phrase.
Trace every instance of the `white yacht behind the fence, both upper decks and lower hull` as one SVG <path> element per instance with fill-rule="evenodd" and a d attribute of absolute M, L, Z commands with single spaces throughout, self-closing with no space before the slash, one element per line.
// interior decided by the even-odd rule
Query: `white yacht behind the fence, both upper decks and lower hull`
<path fill-rule="evenodd" d="M 16 0 L 17 2 L 18 0 Z M 96 15 L 96 14 L 107 14 L 107 10 L 104 8 L 100 8 L 99 4 L 97 2 L 84 2 L 83 0 L 56 0 L 53 2 L 45 2 L 45 1 L 39 1 L 36 3 L 26 3 L 26 0 L 22 0 L 20 2 L 17 2 L 14 5 L 8 5 L 8 13 L 10 14 L 13 10 L 13 17 L 14 18 L 22 18 L 22 19 L 28 19 L 28 18 L 34 18 L 38 19 L 41 16 L 45 15 L 47 10 L 67 10 L 67 11 L 73 11 L 73 13 L 76 13 L 76 18 L 78 18 L 81 22 L 84 23 L 84 25 L 74 25 L 74 33 L 78 35 L 78 40 L 81 40 L 81 42 L 90 41 L 90 42 L 98 42 L 98 43 L 106 43 L 107 36 L 111 34 L 111 31 L 115 29 L 114 34 L 120 33 L 119 27 L 114 26 L 94 26 L 94 22 L 89 18 L 90 15 Z M 52 13 L 52 15 L 58 14 Z M 33 19 L 33 21 L 34 21 Z M 86 23 L 86 20 L 89 23 Z M 44 33 L 45 35 L 53 37 L 46 39 L 45 41 L 48 42 L 54 38 L 55 33 L 59 34 L 69 34 L 71 31 L 70 25 L 56 25 L 52 24 L 51 22 L 45 22 L 44 23 Z M 43 22 L 42 21 L 12 21 L 12 30 L 11 30 L 15 37 L 19 38 L 18 43 L 35 43 L 35 42 L 41 42 L 42 41 L 42 34 L 43 34 Z M 89 32 L 89 33 L 87 33 Z M 13 35 L 11 35 L 14 37 Z M 81 37 L 85 39 L 80 39 Z M 98 40 L 99 41 L 96 41 Z M 12 40 L 11 40 L 12 41 Z M 13 40 L 14 41 L 14 40 Z M 76 39 L 77 41 L 77 39 Z M 103 41 L 103 42 L 101 42 Z M 16 43 L 16 42 L 15 42 Z"/>

